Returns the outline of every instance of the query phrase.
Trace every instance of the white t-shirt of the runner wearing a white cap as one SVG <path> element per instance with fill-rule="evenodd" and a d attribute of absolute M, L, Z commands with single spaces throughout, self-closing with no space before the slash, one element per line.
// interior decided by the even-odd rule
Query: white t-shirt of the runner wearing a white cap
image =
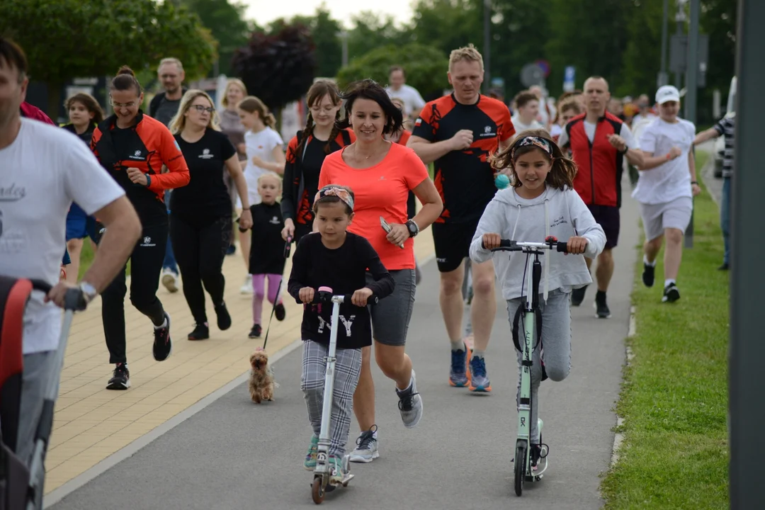
<path fill-rule="evenodd" d="M 676 147 L 682 154 L 652 170 L 640 172 L 637 186 L 632 192 L 633 198 L 640 203 L 668 203 L 679 197 L 693 197 L 688 151 L 691 150 L 696 128 L 692 122 L 677 120 L 670 124 L 656 119 L 643 130 L 640 137 L 641 151 L 663 156 L 672 147 Z"/>

